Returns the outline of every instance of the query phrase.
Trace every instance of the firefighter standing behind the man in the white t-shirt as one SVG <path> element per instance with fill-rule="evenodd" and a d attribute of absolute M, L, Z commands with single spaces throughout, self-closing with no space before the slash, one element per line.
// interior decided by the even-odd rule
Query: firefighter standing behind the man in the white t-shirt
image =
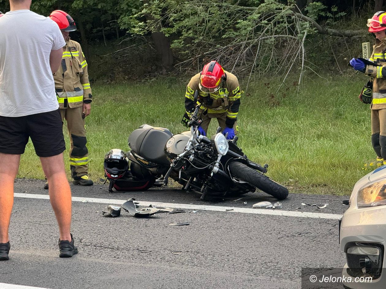
<path fill-rule="evenodd" d="M 88 176 L 88 150 L 85 117 L 91 111 L 91 86 L 88 80 L 87 62 L 80 44 L 69 37 L 76 30 L 73 18 L 68 13 L 55 10 L 50 15 L 63 34 L 66 46 L 59 70 L 54 73 L 55 91 L 63 119 L 67 121 L 71 141 L 69 162 L 73 183 L 82 186 L 93 185 Z M 48 188 L 46 183 L 44 188 Z"/>

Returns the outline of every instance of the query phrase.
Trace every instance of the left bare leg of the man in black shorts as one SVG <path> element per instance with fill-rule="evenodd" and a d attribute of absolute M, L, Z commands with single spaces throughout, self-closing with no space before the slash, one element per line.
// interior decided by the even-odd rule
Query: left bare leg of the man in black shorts
<path fill-rule="evenodd" d="M 8 228 L 14 205 L 14 180 L 19 170 L 19 162 L 20 155 L 0 153 L 0 243 L 9 241 Z"/>

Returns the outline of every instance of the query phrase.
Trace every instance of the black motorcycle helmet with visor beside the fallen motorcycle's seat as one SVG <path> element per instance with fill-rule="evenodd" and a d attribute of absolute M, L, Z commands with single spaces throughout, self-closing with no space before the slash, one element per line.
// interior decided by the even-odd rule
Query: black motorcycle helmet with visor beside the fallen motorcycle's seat
<path fill-rule="evenodd" d="M 124 151 L 114 148 L 105 155 L 103 168 L 109 180 L 118 180 L 129 170 L 129 159 Z"/>

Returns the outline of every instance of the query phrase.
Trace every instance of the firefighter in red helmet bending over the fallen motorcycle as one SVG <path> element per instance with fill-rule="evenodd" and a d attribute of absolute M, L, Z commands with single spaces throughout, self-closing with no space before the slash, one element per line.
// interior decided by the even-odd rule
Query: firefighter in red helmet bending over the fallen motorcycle
<path fill-rule="evenodd" d="M 185 94 L 185 114 L 181 123 L 188 127 L 190 116 L 195 109 L 194 94 L 198 90 L 202 122 L 198 130 L 206 136 L 210 120 L 216 118 L 222 133 L 233 139 L 238 133 L 237 113 L 240 107 L 240 87 L 237 77 L 225 71 L 212 60 L 202 71 L 190 79 Z"/>

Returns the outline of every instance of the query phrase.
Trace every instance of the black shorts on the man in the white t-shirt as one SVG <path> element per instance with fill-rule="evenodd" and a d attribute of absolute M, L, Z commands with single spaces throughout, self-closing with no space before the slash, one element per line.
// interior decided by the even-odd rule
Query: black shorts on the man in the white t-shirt
<path fill-rule="evenodd" d="M 0 153 L 21 155 L 29 137 L 38 156 L 63 153 L 66 144 L 59 109 L 16 118 L 0 116 Z"/>

